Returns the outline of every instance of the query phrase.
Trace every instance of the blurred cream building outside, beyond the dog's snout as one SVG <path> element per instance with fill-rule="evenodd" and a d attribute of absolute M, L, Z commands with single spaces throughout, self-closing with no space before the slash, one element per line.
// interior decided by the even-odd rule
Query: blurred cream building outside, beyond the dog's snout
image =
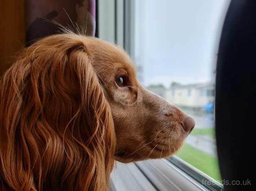
<path fill-rule="evenodd" d="M 170 89 L 151 85 L 148 89 L 171 104 L 183 108 L 205 110 L 207 104 L 214 103 L 215 85 L 212 83 L 174 85 Z"/>

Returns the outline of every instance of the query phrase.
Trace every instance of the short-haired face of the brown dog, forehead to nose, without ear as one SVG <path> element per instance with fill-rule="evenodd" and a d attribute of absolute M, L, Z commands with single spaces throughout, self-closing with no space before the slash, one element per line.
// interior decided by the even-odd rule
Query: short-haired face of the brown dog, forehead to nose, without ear
<path fill-rule="evenodd" d="M 167 157 L 179 150 L 194 120 L 143 88 L 124 50 L 95 38 L 88 38 L 87 44 L 115 124 L 115 159 L 126 163 Z"/>

